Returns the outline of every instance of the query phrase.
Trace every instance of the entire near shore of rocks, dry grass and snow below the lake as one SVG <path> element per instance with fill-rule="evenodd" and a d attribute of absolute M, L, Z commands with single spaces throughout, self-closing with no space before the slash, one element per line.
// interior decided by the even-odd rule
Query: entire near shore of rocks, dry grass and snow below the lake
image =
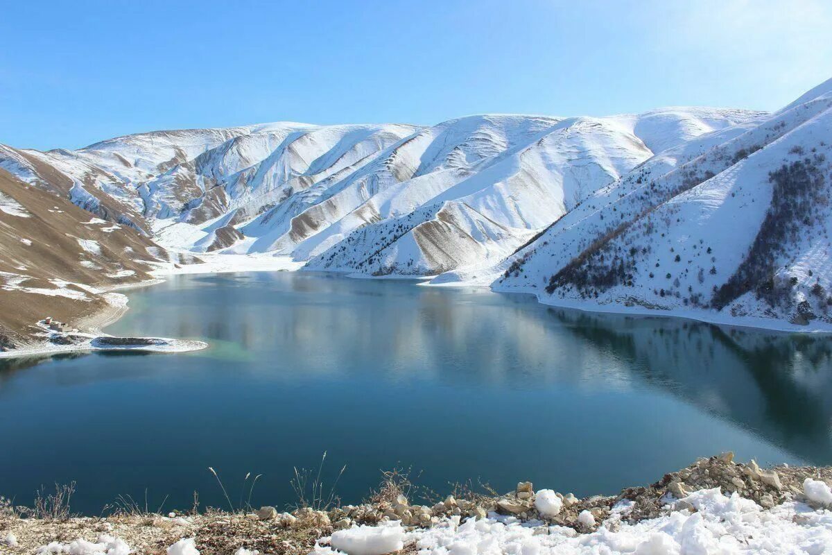
<path fill-rule="evenodd" d="M 748 549 L 741 553 L 756 553 L 755 547 L 766 553 L 795 553 L 796 534 L 810 540 L 803 546 L 807 548 L 832 542 L 832 467 L 760 468 L 753 460 L 737 463 L 733 453 L 721 453 L 666 473 L 655 483 L 608 495 L 576 498 L 535 485 L 520 482 L 502 494 L 455 488 L 445 497 L 433 493 L 418 498 L 421 490 L 406 476 L 383 473 L 379 488 L 357 505 L 297 502 L 283 512 L 249 503 L 234 507 L 229 499 L 230 508 L 202 511 L 196 504 L 190 510 L 164 512 L 136 503 L 116 504 L 95 517 L 72 516 L 67 504 L 54 518 L 6 503 L 0 504 L 0 551 L 448 555 L 443 546 L 468 542 L 473 551 L 460 553 L 483 553 L 476 548 L 483 538 L 475 532 L 488 533 L 492 543 L 500 543 L 499 553 L 548 555 L 597 553 L 590 550 L 599 546 L 607 547 L 601 553 L 611 554 L 679 553 L 680 545 L 694 547 L 691 537 L 716 540 L 696 553 L 735 544 Z M 739 523 L 743 528 L 736 528 Z M 656 546 L 657 533 L 661 542 Z M 391 534 L 396 541 L 382 541 Z M 510 548 L 520 537 L 531 551 Z M 173 546 L 186 544 L 193 550 L 171 552 Z M 636 549 L 642 544 L 659 549 Z"/>

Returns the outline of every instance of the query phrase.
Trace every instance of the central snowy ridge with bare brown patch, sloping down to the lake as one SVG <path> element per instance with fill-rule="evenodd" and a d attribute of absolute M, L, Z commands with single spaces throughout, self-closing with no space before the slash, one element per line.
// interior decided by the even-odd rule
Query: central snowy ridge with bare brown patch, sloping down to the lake
<path fill-rule="evenodd" d="M 491 138 L 488 146 L 498 136 L 503 148 L 485 151 L 473 161 L 448 157 L 441 164 L 421 166 L 410 179 L 367 196 L 323 232 L 331 236 L 312 242 L 311 249 L 307 240 L 293 254 L 313 256 L 309 268 L 372 275 L 434 275 L 488 265 L 513 252 L 592 191 L 652 156 L 647 143 L 676 144 L 696 129 L 726 126 L 752 116 L 704 111 L 710 116 L 708 122 L 696 111 L 684 109 L 535 121 L 522 136 L 506 131 L 507 120 L 521 116 L 481 116 L 472 135 Z M 450 144 L 469 144 L 469 136 L 456 128 L 459 123 L 470 126 L 472 120 L 442 124 L 455 132 L 443 129 L 440 144 L 448 145 L 448 135 L 453 136 Z M 634 134 L 636 129 L 643 138 Z M 459 148 L 455 146 L 451 154 Z"/>

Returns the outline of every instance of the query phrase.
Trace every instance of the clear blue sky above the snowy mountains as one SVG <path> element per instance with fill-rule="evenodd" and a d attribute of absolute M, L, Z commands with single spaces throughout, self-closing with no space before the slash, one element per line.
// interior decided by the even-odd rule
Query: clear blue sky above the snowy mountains
<path fill-rule="evenodd" d="M 263 121 L 775 109 L 832 77 L 832 2 L 2 2 L 0 142 Z"/>

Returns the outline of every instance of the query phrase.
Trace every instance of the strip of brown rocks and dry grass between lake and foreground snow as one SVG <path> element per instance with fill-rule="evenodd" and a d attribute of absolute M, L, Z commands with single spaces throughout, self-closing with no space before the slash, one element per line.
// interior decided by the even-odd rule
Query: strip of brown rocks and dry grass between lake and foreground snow
<path fill-rule="evenodd" d="M 735 463 L 731 453 L 701 458 L 679 471 L 667 473 L 648 486 L 626 488 L 617 496 L 579 499 L 572 493 L 549 489 L 535 491 L 532 483 L 518 483 L 503 495 L 467 492 L 434 503 L 416 503 L 401 494 L 374 496 L 375 503 L 343 505 L 327 511 L 297 508 L 290 512 L 262 507 L 250 513 L 209 510 L 201 514 L 118 514 L 108 518 L 70 518 L 47 521 L 20 518 L 9 506 L 0 506 L 0 553 L 33 553 L 52 542 L 68 543 L 77 538 L 97 540 L 101 534 L 121 538 L 135 553 L 166 554 L 172 544 L 195 538 L 203 555 L 251 552 L 310 553 L 319 538 L 358 525 L 400 523 L 404 528 L 432 528 L 449 518 L 482 519 L 503 515 L 520 521 L 572 528 L 590 533 L 604 521 L 607 528 L 637 523 L 674 511 L 695 511 L 681 500 L 701 489 L 721 488 L 738 493 L 762 508 L 787 501 L 803 501 L 813 508 L 832 508 L 832 468 L 760 468 L 754 461 Z M 616 507 L 628 505 L 626 513 Z M 14 538 L 14 543 L 3 538 Z M 405 546 L 407 550 L 407 546 Z"/>

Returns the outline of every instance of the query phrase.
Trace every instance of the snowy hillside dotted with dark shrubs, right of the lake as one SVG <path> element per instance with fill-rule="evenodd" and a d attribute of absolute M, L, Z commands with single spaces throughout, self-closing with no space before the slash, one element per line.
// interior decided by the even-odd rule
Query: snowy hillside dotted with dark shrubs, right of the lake
<path fill-rule="evenodd" d="M 832 80 L 594 192 L 495 266 L 494 288 L 592 310 L 832 327 L 830 150 Z"/>

